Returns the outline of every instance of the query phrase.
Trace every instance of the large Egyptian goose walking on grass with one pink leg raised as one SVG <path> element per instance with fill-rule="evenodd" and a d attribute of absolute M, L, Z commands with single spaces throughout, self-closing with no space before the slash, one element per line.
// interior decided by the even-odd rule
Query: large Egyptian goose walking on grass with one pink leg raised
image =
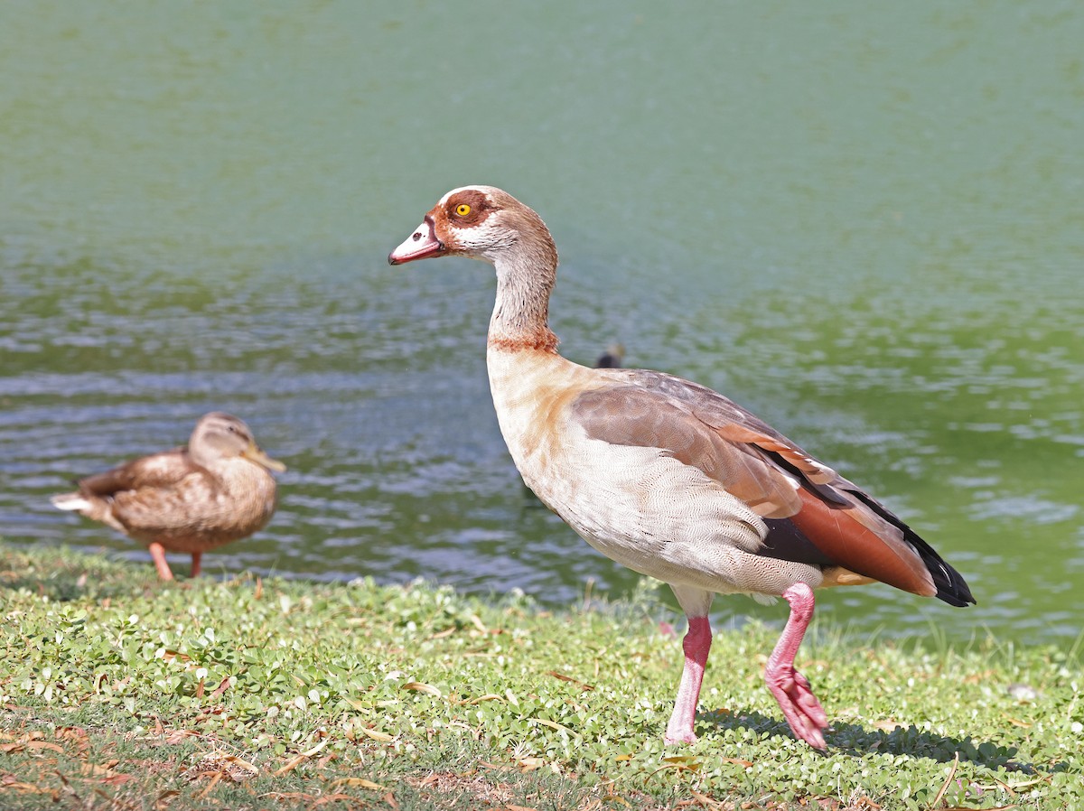
<path fill-rule="evenodd" d="M 879 580 L 950 605 L 975 602 L 900 518 L 722 395 L 560 357 L 547 325 L 557 250 L 542 219 L 507 192 L 450 191 L 388 261 L 436 256 L 496 269 L 487 365 L 524 481 L 596 550 L 669 583 L 688 617 L 668 744 L 696 739 L 714 594 L 787 600 L 764 678 L 795 735 L 818 749 L 827 716 L 795 670 L 813 589 Z"/>

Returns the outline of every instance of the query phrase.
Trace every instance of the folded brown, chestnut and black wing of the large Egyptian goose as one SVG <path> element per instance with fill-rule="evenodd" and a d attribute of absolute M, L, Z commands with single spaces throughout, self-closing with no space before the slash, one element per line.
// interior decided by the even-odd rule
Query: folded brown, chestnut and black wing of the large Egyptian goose
<path fill-rule="evenodd" d="M 629 370 L 624 378 L 629 385 L 576 401 L 588 433 L 617 445 L 660 448 L 704 471 L 772 519 L 776 540 L 790 539 L 777 549 L 766 543 L 767 554 L 823 555 L 825 566 L 905 591 L 973 602 L 958 572 L 905 524 L 737 403 L 659 372 Z"/>

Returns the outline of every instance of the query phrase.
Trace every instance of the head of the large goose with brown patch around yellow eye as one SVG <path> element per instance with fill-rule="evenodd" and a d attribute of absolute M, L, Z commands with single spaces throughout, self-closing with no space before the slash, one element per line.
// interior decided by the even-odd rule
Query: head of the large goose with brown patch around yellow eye
<path fill-rule="evenodd" d="M 465 256 L 493 265 L 530 258 L 556 267 L 557 250 L 533 209 L 491 185 L 448 192 L 422 224 L 388 255 L 389 265 Z"/>

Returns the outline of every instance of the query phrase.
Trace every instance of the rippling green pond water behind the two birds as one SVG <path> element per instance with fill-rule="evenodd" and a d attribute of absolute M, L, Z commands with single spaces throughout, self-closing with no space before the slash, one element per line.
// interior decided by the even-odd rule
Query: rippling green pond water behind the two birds
<path fill-rule="evenodd" d="M 225 409 L 291 469 L 212 572 L 630 589 L 516 478 L 490 272 L 386 265 L 485 182 L 554 232 L 569 357 L 619 339 L 752 408 L 979 600 L 822 615 L 1068 644 L 1081 42 L 1068 3 L 4 3 L 0 535 L 145 557 L 48 494 Z"/>

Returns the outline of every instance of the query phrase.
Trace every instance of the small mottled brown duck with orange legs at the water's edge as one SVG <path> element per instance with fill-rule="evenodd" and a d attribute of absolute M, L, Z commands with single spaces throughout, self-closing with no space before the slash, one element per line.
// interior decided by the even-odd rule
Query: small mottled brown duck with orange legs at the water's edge
<path fill-rule="evenodd" d="M 285 469 L 257 447 L 241 420 L 214 411 L 196 423 L 188 448 L 88 476 L 78 491 L 52 502 L 145 543 L 163 580 L 173 579 L 167 551 L 191 553 L 196 577 L 204 552 L 267 525 L 275 507 L 268 471 Z"/>

